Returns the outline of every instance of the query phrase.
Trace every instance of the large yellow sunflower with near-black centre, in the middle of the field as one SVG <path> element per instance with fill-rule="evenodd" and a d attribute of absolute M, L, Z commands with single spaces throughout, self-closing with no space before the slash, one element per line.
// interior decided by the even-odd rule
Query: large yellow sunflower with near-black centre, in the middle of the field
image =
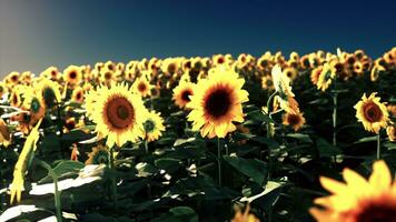
<path fill-rule="evenodd" d="M 208 79 L 198 82 L 187 104 L 192 109 L 188 114 L 192 130 L 200 130 L 208 138 L 225 138 L 235 131 L 232 121 L 244 122 L 241 103 L 249 101 L 249 93 L 241 89 L 244 83 L 234 70 L 224 67 L 209 70 Z"/>

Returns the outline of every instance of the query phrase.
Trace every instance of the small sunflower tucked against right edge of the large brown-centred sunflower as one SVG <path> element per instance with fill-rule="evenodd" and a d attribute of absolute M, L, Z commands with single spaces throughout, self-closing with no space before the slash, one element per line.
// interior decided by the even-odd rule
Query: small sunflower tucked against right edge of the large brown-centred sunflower
<path fill-rule="evenodd" d="M 146 139 L 148 142 L 158 140 L 165 131 L 164 119 L 156 111 L 150 111 L 145 115 L 143 129 L 145 134 L 142 139 Z"/>

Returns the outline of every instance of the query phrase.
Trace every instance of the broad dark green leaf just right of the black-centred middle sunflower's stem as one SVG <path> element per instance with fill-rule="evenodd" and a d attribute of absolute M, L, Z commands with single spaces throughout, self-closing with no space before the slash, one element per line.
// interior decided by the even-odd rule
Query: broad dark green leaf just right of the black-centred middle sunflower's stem
<path fill-rule="evenodd" d="M 227 163 L 232 165 L 236 170 L 250 178 L 259 185 L 264 185 L 267 182 L 267 163 L 257 159 L 242 159 L 239 157 L 224 155 Z"/>

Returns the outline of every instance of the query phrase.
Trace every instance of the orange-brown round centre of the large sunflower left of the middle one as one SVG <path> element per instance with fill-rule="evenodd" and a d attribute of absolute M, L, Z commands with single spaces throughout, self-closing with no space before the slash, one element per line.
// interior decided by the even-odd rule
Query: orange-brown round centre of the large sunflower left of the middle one
<path fill-rule="evenodd" d="M 125 129 L 133 122 L 133 107 L 123 97 L 116 97 L 108 101 L 106 108 L 107 120 L 116 129 Z"/>

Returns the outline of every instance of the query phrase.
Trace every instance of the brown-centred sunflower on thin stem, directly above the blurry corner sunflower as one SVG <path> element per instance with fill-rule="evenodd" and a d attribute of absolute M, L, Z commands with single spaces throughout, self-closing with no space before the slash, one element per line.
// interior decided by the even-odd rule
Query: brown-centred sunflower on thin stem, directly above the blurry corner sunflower
<path fill-rule="evenodd" d="M 384 103 L 379 102 L 380 98 L 375 97 L 373 92 L 368 98 L 363 94 L 362 100 L 355 104 L 356 118 L 363 123 L 365 130 L 379 133 L 380 128 L 386 128 L 389 114 Z"/>

